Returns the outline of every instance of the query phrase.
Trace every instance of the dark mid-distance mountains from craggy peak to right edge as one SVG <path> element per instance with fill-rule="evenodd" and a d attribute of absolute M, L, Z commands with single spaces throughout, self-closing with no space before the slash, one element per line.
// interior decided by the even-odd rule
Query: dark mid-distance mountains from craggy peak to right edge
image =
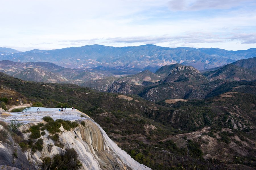
<path fill-rule="evenodd" d="M 248 61 L 247 61 L 248 60 Z M 244 59 L 242 63 L 253 63 L 256 57 Z M 101 79 L 101 88 L 98 88 L 99 80 L 95 80 L 88 85 L 86 82 L 82 86 L 89 86 L 97 90 L 122 94 L 136 94 L 150 101 L 161 101 L 166 99 L 203 99 L 218 95 L 216 89 L 222 87 L 226 92 L 232 91 L 232 84 L 246 84 L 241 81 L 255 81 L 255 67 L 243 64 L 238 67 L 240 61 L 231 63 L 222 67 L 213 69 L 214 71 L 199 72 L 192 66 L 184 66 L 181 64 L 166 65 L 158 69 L 155 73 L 143 71 L 134 75 L 125 76 L 118 80 L 113 79 L 111 84 L 109 81 L 104 82 Z M 250 69 L 247 69 L 248 67 Z M 225 84 L 225 86 L 224 86 Z M 250 84 L 250 83 L 249 83 Z M 249 86 L 247 84 L 246 86 Z"/>

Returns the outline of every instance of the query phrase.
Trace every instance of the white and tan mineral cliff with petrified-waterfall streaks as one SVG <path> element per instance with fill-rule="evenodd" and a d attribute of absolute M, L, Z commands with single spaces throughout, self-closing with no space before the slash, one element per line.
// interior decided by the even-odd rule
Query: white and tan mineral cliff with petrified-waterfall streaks
<path fill-rule="evenodd" d="M 20 113 L 20 112 L 15 112 Z M 10 113 L 13 114 L 13 113 Z M 80 115 L 84 115 L 81 117 Z M 34 165 L 33 169 L 39 169 L 42 164 L 43 157 L 53 157 L 56 154 L 65 152 L 67 148 L 74 148 L 79 155 L 79 160 L 82 163 L 81 169 L 96 170 L 96 169 L 150 169 L 143 164 L 135 161 L 125 151 L 121 150 L 106 134 L 106 132 L 89 116 L 79 111 L 44 111 L 44 112 L 27 112 L 20 116 L 0 115 L 0 120 L 11 121 L 17 119 L 24 123 L 20 127 L 20 131 L 28 130 L 30 126 L 43 122 L 43 117 L 50 116 L 55 119 L 63 119 L 70 121 L 85 122 L 85 127 L 82 125 L 67 131 L 61 127 L 59 133 L 60 142 L 64 144 L 64 149 L 54 146 L 51 138 L 47 138 L 46 134 L 41 136 L 44 140 L 44 148 L 41 152 L 37 151 L 34 154 L 30 150 L 23 155 Z M 24 138 L 28 138 L 31 133 L 25 133 Z M 76 137 L 75 137 L 76 136 Z M 6 146 L 0 142 L 1 148 Z M 1 165 L 0 165 L 1 166 Z"/>

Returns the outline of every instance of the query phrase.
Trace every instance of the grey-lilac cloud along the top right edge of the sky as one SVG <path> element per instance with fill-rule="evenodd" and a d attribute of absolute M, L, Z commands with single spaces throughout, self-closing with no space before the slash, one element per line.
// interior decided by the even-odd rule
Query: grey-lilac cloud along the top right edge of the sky
<path fill-rule="evenodd" d="M 168 2 L 172 11 L 200 11 L 206 9 L 230 9 L 254 0 L 171 0 Z"/>

